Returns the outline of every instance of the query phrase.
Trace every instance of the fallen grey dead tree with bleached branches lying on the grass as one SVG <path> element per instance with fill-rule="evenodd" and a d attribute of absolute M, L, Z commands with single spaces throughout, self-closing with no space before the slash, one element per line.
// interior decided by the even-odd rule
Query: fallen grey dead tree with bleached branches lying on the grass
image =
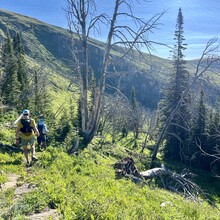
<path fill-rule="evenodd" d="M 126 157 L 114 164 L 116 178 L 130 178 L 133 182 L 144 182 L 155 179 L 164 189 L 183 195 L 187 199 L 200 202 L 199 197 L 206 198 L 204 191 L 191 179 L 194 174 L 186 169 L 181 174 L 167 169 L 164 165 L 140 172 L 134 164 L 132 157 Z"/>

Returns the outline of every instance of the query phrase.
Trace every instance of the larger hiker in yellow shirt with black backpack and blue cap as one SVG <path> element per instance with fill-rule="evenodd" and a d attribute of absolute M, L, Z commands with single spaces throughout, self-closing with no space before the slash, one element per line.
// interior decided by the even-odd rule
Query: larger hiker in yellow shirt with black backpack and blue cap
<path fill-rule="evenodd" d="M 28 144 L 31 147 L 31 161 L 37 161 L 35 156 L 35 135 L 39 136 L 39 131 L 37 129 L 34 119 L 30 118 L 30 112 L 27 109 L 23 110 L 22 117 L 17 122 L 16 130 L 16 145 L 21 145 L 23 147 L 24 156 L 27 162 L 27 165 L 30 165 L 28 159 Z"/>

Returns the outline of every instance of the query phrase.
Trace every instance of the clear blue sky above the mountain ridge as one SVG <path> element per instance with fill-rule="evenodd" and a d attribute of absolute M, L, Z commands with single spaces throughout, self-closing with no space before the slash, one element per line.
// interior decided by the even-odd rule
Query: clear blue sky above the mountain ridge
<path fill-rule="evenodd" d="M 142 0 L 139 0 L 141 2 Z M 111 14 L 114 0 L 96 0 L 97 10 Z M 0 8 L 11 12 L 36 18 L 40 21 L 67 28 L 64 8 L 66 0 L 0 0 Z M 186 59 L 201 57 L 208 40 L 220 37 L 220 4 L 219 0 L 147 0 L 133 5 L 135 15 L 149 19 L 157 13 L 166 10 L 158 28 L 149 35 L 152 41 L 173 46 L 174 32 L 179 7 L 184 19 L 184 37 L 187 49 L 184 51 Z M 105 41 L 104 32 L 97 39 Z M 154 46 L 153 54 L 168 58 L 170 50 L 162 46 Z"/>

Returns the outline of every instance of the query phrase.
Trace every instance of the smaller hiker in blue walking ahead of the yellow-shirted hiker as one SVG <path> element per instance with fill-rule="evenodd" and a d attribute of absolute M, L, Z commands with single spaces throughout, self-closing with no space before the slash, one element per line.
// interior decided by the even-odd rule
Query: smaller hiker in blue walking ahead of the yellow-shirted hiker
<path fill-rule="evenodd" d="M 43 115 L 40 115 L 40 121 L 37 124 L 37 129 L 40 133 L 40 135 L 37 137 L 38 151 L 41 150 L 41 147 L 43 147 L 44 150 L 46 150 L 46 134 L 49 131 L 47 129 L 46 124 L 44 123 Z"/>

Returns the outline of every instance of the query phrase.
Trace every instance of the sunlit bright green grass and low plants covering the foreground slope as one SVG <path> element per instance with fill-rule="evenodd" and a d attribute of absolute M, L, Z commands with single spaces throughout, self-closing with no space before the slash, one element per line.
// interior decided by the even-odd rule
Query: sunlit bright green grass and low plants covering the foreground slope
<path fill-rule="evenodd" d="M 120 148 L 115 151 L 123 152 Z M 37 186 L 13 205 L 13 191 L 1 192 L 1 199 L 6 198 L 7 193 L 10 195 L 6 201 L 1 200 L 4 202 L 0 210 L 8 208 L 3 216 L 5 219 L 37 213 L 45 207 L 56 208 L 61 219 L 217 220 L 220 217 L 218 210 L 206 201 L 198 204 L 155 186 L 116 180 L 112 165 L 117 158 L 95 151 L 94 146 L 78 156 L 69 156 L 59 148 L 49 147 L 38 154 L 39 161 L 28 173 L 23 163 L 13 164 L 19 156 L 0 156 L 5 158 L 0 163 L 0 170 L 16 171 L 24 182 Z"/>

